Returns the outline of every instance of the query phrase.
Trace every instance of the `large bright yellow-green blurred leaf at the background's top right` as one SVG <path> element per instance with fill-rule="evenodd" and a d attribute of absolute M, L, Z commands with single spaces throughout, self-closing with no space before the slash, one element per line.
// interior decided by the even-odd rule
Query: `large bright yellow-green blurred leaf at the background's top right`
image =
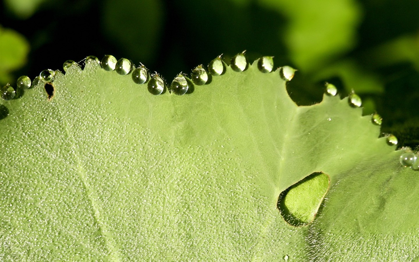
<path fill-rule="evenodd" d="M 259 0 L 288 18 L 283 41 L 292 61 L 315 71 L 354 47 L 360 7 L 354 0 Z"/>

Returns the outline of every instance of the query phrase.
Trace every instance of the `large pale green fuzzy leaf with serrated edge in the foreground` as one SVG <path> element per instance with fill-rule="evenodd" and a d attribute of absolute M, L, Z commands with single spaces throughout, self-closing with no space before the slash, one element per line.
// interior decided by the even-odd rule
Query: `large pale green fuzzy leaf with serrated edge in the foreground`
<path fill-rule="evenodd" d="M 183 96 L 89 60 L 43 86 L 1 102 L 2 261 L 417 259 L 418 173 L 347 98 L 297 106 L 257 62 Z M 315 172 L 292 226 L 278 197 Z"/>

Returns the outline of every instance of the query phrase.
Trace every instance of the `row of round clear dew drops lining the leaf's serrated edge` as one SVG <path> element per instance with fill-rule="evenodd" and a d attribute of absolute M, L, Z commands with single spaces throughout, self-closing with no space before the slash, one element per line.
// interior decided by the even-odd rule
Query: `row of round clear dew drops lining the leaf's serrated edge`
<path fill-rule="evenodd" d="M 168 88 L 170 93 L 175 93 L 176 95 L 184 95 L 186 93 L 191 93 L 194 89 L 194 85 L 202 86 L 205 84 L 209 84 L 211 82 L 212 76 L 223 75 L 226 71 L 227 65 L 221 59 L 221 55 L 216 57 L 214 60 L 209 62 L 208 70 L 205 70 L 202 65 L 198 65 L 194 70 L 192 70 L 191 78 L 186 77 L 183 73 L 179 73 L 176 78 L 173 79 L 170 87 Z M 164 93 L 166 85 L 164 80 L 160 78 L 157 72 L 154 74 L 150 74 L 147 68 L 140 64 L 139 67 L 135 67 L 134 64 L 126 59 L 121 58 L 116 60 L 116 58 L 112 55 L 106 55 L 99 60 L 95 56 L 88 56 L 85 58 L 84 62 L 87 63 L 88 61 L 97 63 L 97 65 L 101 65 L 101 67 L 106 71 L 116 71 L 119 75 L 128 75 L 131 73 L 132 80 L 134 83 L 137 84 L 145 84 L 147 83 L 147 89 L 153 95 L 159 95 Z M 71 66 L 79 66 L 79 64 L 73 60 L 67 60 L 63 64 L 64 71 L 67 71 Z M 233 56 L 230 62 L 230 67 L 236 72 L 243 72 L 248 69 L 249 62 L 245 56 L 245 52 L 241 52 Z M 263 56 L 258 60 L 258 69 L 262 73 L 271 73 L 274 70 L 274 61 L 272 56 Z M 295 74 L 295 69 L 290 66 L 283 66 L 279 67 L 279 74 L 282 79 L 286 81 L 292 80 Z M 54 80 L 55 71 L 51 69 L 43 70 L 35 81 L 41 80 L 44 83 L 51 83 Z M 0 90 L 0 95 L 5 100 L 11 100 L 15 98 L 16 91 L 21 89 L 28 89 L 31 88 L 31 79 L 23 75 L 18 78 L 16 86 L 17 88 L 13 88 L 9 84 L 3 86 Z M 329 96 L 336 96 L 337 88 L 331 83 L 326 83 L 326 94 Z M 362 104 L 362 100 L 360 96 L 352 91 L 352 93 L 348 97 L 349 105 L 352 107 L 360 107 Z M 373 114 L 372 123 L 375 125 L 381 125 L 382 118 L 379 114 Z M 398 140 L 394 135 L 387 135 L 387 143 L 389 145 L 397 145 Z M 401 156 L 400 162 L 403 166 L 409 166 L 413 170 L 419 170 L 419 156 L 413 154 L 411 152 L 404 153 Z"/>

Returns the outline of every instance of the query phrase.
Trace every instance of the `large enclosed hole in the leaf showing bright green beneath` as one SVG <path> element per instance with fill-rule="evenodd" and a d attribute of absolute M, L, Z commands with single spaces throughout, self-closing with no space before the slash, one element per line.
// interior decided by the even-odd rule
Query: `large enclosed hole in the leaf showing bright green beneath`
<path fill-rule="evenodd" d="M 314 220 L 328 188 L 328 175 L 310 174 L 279 195 L 278 209 L 290 225 L 307 225 Z"/>

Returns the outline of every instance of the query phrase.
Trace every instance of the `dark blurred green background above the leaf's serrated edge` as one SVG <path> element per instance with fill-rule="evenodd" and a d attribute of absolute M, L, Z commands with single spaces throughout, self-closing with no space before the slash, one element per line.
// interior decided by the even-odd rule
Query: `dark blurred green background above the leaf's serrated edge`
<path fill-rule="evenodd" d="M 383 132 L 419 144 L 417 0 L 3 0 L 0 84 L 62 70 L 65 60 L 112 54 L 170 82 L 217 55 L 246 51 L 298 69 L 297 104 L 321 101 L 324 83 L 361 96 Z"/>

